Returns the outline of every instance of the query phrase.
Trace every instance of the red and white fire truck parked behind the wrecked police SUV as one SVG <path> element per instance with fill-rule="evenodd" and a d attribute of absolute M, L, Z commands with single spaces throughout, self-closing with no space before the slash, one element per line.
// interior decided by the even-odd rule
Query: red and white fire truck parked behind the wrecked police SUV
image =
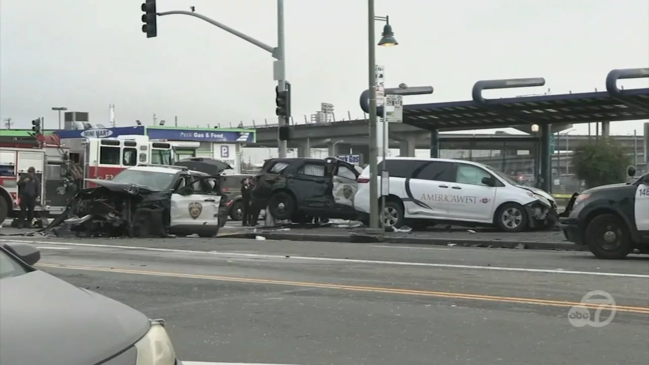
<path fill-rule="evenodd" d="M 84 179 L 112 179 L 137 164 L 173 164 L 173 148 L 147 136 L 66 138 L 38 134 L 36 138 L 0 140 L 0 224 L 18 216 L 18 181 L 34 167 L 40 179 L 40 217 L 62 213 L 79 189 L 93 187 Z"/>

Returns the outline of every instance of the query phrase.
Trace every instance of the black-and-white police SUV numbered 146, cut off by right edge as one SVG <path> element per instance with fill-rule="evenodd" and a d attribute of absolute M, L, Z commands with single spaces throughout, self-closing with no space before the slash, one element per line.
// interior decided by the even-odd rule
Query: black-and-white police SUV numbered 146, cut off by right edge
<path fill-rule="evenodd" d="M 635 176 L 635 168 L 627 173 Z M 630 184 L 575 193 L 559 227 L 570 242 L 587 245 L 597 258 L 619 259 L 633 249 L 649 253 L 649 172 Z"/>

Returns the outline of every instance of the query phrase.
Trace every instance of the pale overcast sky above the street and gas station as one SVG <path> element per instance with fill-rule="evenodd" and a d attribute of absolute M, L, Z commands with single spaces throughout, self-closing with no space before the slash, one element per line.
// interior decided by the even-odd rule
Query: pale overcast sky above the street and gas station
<path fill-rule="evenodd" d="M 2 0 L 0 118 L 27 127 L 38 116 L 55 127 L 51 107 L 90 112 L 119 125 L 167 123 L 227 127 L 275 120 L 269 53 L 189 16 L 158 18 L 158 37 L 140 30 L 142 1 Z M 286 0 L 288 79 L 293 115 L 332 103 L 361 118 L 367 88 L 367 3 Z M 158 0 L 158 11 L 189 10 L 276 45 L 273 0 Z M 481 79 L 545 77 L 543 88 L 489 97 L 606 90 L 614 68 L 649 66 L 646 0 L 376 0 L 389 15 L 397 47 L 376 50 L 387 86 L 432 85 L 406 103 L 466 100 Z M 383 24 L 376 23 L 376 39 Z M 625 81 L 648 87 L 649 79 Z M 642 133 L 642 121 L 616 122 L 612 134 Z M 587 127 L 579 126 L 577 134 Z M 254 153 L 267 156 L 262 149 Z M 257 157 L 253 157 L 256 160 Z"/>

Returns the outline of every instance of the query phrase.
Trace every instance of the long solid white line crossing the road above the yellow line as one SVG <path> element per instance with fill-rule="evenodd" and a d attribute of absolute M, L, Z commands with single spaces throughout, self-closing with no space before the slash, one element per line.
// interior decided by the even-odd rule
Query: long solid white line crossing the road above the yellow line
<path fill-rule="evenodd" d="M 533 269 L 533 268 L 504 268 L 500 266 L 477 266 L 477 265 L 453 265 L 453 264 L 432 264 L 430 262 L 402 262 L 402 261 L 382 261 L 382 260 L 358 260 L 353 258 L 333 258 L 333 257 L 308 257 L 308 256 L 290 256 L 287 255 L 262 255 L 259 253 L 229 253 L 215 251 L 194 251 L 189 249 L 170 249 L 155 247 L 139 246 L 121 246 L 121 245 L 102 245 L 102 244 L 78 244 L 75 242 L 49 242 L 49 241 L 30 241 L 30 240 L 0 240 L 0 242 L 27 242 L 29 244 L 49 244 L 49 245 L 71 245 L 80 247 L 101 247 L 112 249 L 132 249 L 140 251 L 156 252 L 173 252 L 173 253 L 191 253 L 197 255 L 215 255 L 226 257 L 254 257 L 254 258 L 280 258 L 282 260 L 313 260 L 313 261 L 330 261 L 330 262 L 353 262 L 355 264 L 381 264 L 397 266 L 419 266 L 428 268 L 453 268 L 453 269 L 470 269 L 470 270 L 491 270 L 491 271 L 523 271 L 528 273 L 560 273 L 574 275 L 593 275 L 593 276 L 610 276 L 610 277 L 640 277 L 649 279 L 649 275 L 632 274 L 632 273 L 607 273 L 596 271 L 572 271 L 557 269 Z"/>

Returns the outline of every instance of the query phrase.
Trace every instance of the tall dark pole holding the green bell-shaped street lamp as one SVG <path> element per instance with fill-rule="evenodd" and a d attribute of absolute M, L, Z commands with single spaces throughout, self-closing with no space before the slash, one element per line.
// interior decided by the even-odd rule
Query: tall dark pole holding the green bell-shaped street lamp
<path fill-rule="evenodd" d="M 378 229 L 378 166 L 376 164 L 376 40 L 374 39 L 374 0 L 367 0 L 367 75 L 369 86 L 369 227 Z"/>

